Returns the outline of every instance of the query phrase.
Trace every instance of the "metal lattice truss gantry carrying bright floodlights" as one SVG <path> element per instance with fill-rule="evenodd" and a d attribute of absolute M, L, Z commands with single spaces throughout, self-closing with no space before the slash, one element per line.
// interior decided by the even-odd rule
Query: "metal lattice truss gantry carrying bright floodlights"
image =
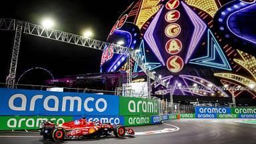
<path fill-rule="evenodd" d="M 113 43 L 107 43 L 104 41 L 99 41 L 97 39 L 91 39 L 89 37 L 83 37 L 80 35 L 75 35 L 72 33 L 67 33 L 64 31 L 59 31 L 56 29 L 49 29 L 43 27 L 41 25 L 35 25 L 33 23 L 28 23 L 26 21 L 21 21 L 17 19 L 0 19 L 0 30 L 7 30 L 7 31 L 15 31 L 15 39 L 13 43 L 13 51 L 9 69 L 9 75 L 7 75 L 6 85 L 7 88 L 14 88 L 15 85 L 15 77 L 16 77 L 16 69 L 17 69 L 17 62 L 19 56 L 19 46 L 21 43 L 21 34 L 29 34 L 34 35 L 37 37 L 43 37 L 47 39 L 53 39 L 55 41 L 61 41 L 64 43 L 70 43 L 73 45 L 79 45 L 81 47 L 88 47 L 91 49 L 98 49 L 103 51 L 105 47 L 113 47 L 113 53 L 127 55 L 127 84 L 131 83 L 132 80 L 132 66 L 131 66 L 131 59 L 135 61 L 144 71 L 144 73 L 150 78 L 160 83 L 164 87 L 169 88 L 169 85 L 162 81 L 151 73 L 149 69 L 145 67 L 145 63 L 141 61 L 141 57 L 136 55 L 136 52 L 133 49 L 129 49 L 128 47 L 122 47 L 121 45 L 115 45 Z"/>

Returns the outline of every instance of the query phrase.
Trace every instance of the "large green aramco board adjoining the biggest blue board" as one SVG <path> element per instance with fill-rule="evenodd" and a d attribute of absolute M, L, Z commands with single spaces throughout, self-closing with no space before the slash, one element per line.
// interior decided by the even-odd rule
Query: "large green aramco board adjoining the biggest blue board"
<path fill-rule="evenodd" d="M 119 115 L 159 115 L 159 101 L 133 97 L 119 97 Z"/>

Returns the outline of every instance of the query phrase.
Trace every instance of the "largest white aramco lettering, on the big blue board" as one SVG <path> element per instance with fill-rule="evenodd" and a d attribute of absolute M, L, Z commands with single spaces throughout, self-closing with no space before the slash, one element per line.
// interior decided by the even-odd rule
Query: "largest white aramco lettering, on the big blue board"
<path fill-rule="evenodd" d="M 43 101 L 43 108 L 46 111 L 59 111 L 59 107 L 61 107 L 61 111 L 66 111 L 67 101 L 70 102 L 69 111 L 74 111 L 74 103 L 77 102 L 77 111 L 81 111 L 82 105 L 83 109 L 88 112 L 98 111 L 104 112 L 107 109 L 107 101 L 103 98 L 95 99 L 94 97 L 87 97 L 85 101 L 82 101 L 81 97 L 61 97 L 62 103 L 59 103 L 59 97 L 55 95 L 49 95 L 47 97 L 43 97 L 43 95 L 34 95 L 31 98 L 31 101 L 27 101 L 27 97 L 23 94 L 15 94 L 12 95 L 9 99 L 9 108 L 13 111 L 35 111 L 35 103 L 37 101 Z M 19 103 L 15 103 L 19 99 Z M 49 106 L 49 101 L 53 102 L 51 107 Z M 89 107 L 89 103 L 95 102 L 95 109 L 93 107 Z M 99 107 L 99 105 L 103 105 L 103 107 Z M 29 107 L 29 109 L 26 109 Z M 41 107 L 41 105 L 40 105 Z"/>

